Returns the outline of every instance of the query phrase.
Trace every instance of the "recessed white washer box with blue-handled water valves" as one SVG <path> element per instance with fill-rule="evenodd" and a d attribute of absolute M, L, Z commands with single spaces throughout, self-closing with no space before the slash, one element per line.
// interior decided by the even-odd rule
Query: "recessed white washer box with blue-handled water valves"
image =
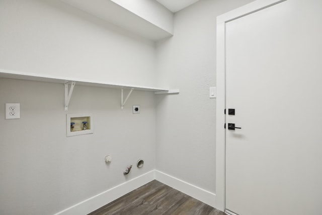
<path fill-rule="evenodd" d="M 67 136 L 94 133 L 94 123 L 92 114 L 66 114 Z"/>

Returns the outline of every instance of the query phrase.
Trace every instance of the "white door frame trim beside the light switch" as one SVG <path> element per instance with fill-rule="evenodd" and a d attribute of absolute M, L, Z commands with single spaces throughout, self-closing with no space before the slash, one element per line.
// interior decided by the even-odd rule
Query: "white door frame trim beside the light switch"
<path fill-rule="evenodd" d="M 215 207 L 225 210 L 225 25 L 287 0 L 257 0 L 217 17 L 216 35 L 216 199 Z"/>

